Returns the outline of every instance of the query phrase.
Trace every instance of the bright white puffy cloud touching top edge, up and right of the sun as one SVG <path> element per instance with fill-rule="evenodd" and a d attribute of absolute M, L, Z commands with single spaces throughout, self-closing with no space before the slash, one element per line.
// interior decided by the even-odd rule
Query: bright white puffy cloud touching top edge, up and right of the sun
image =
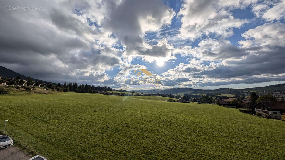
<path fill-rule="evenodd" d="M 239 28 L 247 19 L 233 17 L 226 7 L 242 7 L 247 1 L 185 0 L 178 15 L 182 16 L 180 36 L 195 39 L 203 35 L 233 35 L 232 28 Z"/>

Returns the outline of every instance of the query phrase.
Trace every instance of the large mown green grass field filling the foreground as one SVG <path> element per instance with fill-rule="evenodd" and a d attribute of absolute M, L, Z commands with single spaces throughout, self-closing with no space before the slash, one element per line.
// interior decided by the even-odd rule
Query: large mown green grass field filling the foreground
<path fill-rule="evenodd" d="M 285 122 L 167 99 L 12 92 L 0 121 L 48 159 L 284 159 Z"/>

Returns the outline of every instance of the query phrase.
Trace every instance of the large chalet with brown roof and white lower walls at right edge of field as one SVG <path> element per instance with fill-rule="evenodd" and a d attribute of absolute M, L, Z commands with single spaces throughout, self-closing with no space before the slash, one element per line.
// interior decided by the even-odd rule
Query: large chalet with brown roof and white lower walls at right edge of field
<path fill-rule="evenodd" d="M 254 105 L 256 113 L 262 113 L 263 117 L 281 119 L 285 113 L 285 102 L 259 102 Z"/>

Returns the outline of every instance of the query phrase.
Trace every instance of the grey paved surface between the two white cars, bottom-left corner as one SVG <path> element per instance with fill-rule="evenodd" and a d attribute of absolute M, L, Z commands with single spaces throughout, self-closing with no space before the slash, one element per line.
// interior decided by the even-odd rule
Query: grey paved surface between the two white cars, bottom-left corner
<path fill-rule="evenodd" d="M 27 153 L 15 146 L 0 149 L 0 160 L 28 160 L 30 158 Z"/>

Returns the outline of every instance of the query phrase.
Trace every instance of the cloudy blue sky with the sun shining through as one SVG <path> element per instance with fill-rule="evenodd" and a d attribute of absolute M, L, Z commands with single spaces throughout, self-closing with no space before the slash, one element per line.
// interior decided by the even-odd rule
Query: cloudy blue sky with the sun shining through
<path fill-rule="evenodd" d="M 0 65 L 32 78 L 127 90 L 285 83 L 285 0 L 0 4 Z"/>

